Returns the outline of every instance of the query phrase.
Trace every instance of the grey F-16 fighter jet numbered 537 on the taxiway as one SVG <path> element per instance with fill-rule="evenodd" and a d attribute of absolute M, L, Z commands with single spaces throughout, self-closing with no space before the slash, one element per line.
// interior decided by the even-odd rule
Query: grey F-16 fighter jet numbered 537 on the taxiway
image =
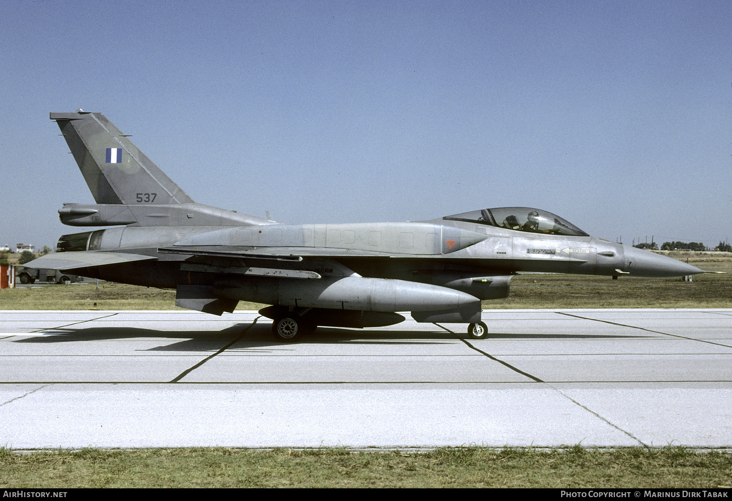
<path fill-rule="evenodd" d="M 481 339 L 481 301 L 518 272 L 673 277 L 690 264 L 591 237 L 530 207 L 405 223 L 285 224 L 197 204 L 104 115 L 51 113 L 96 204 L 64 204 L 56 253 L 26 264 L 174 289 L 176 305 L 221 315 L 264 303 L 279 341 L 318 326 L 465 323 Z"/>

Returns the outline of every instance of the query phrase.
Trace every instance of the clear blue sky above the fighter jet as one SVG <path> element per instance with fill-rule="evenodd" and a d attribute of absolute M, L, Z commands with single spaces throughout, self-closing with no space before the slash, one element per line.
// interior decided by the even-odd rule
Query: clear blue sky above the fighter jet
<path fill-rule="evenodd" d="M 0 244 L 81 231 L 49 112 L 105 114 L 195 201 L 284 223 L 537 207 L 624 243 L 732 238 L 724 1 L 18 1 Z"/>

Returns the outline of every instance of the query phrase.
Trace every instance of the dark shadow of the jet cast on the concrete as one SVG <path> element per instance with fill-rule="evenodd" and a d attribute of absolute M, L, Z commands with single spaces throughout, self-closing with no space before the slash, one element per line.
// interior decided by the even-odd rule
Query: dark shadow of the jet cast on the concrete
<path fill-rule="evenodd" d="M 242 335 L 242 332 L 244 335 Z M 490 340 L 526 340 L 541 341 L 556 340 L 602 340 L 602 339 L 638 339 L 654 337 L 652 335 L 604 335 L 604 334 L 536 334 L 536 333 L 491 333 Z M 408 344 L 441 344 L 444 341 L 456 341 L 466 338 L 464 333 L 452 333 L 435 325 L 433 331 L 419 330 L 356 330 L 340 327 L 318 327 L 315 333 L 303 337 L 299 342 L 287 344 L 275 341 L 272 338 L 272 329 L 269 322 L 264 324 L 240 323 L 226 327 L 223 330 L 154 330 L 137 327 L 60 327 L 48 330 L 43 335 L 24 338 L 15 343 L 65 343 L 78 341 L 112 341 L 132 338 L 160 338 L 182 339 L 166 346 L 156 346 L 143 351 L 176 351 L 176 352 L 216 352 L 225 344 L 236 341 L 229 351 L 250 349 L 261 346 L 277 346 L 286 348 L 294 344 L 339 344 L 348 341 L 348 344 L 359 342 L 362 344 L 395 344 L 395 341 L 405 341 Z M 468 340 L 476 342 L 474 340 Z M 242 346 L 241 343 L 245 345 Z"/>

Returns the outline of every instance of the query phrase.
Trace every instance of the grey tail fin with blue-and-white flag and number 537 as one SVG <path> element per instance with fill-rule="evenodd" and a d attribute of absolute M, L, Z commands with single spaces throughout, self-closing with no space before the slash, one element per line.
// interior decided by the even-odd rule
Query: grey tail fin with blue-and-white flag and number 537
<path fill-rule="evenodd" d="M 97 204 L 186 204 L 193 200 L 100 113 L 52 113 Z"/>

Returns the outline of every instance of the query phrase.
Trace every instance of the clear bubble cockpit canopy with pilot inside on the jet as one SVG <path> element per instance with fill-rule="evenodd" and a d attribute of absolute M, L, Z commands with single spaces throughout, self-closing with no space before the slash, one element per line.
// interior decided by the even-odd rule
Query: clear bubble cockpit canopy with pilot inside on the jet
<path fill-rule="evenodd" d="M 527 231 L 568 237 L 589 237 L 584 231 L 569 221 L 545 210 L 531 209 L 530 207 L 498 207 L 496 209 L 480 209 L 445 216 L 443 219 L 452 221 L 466 221 L 498 228 Z"/>

